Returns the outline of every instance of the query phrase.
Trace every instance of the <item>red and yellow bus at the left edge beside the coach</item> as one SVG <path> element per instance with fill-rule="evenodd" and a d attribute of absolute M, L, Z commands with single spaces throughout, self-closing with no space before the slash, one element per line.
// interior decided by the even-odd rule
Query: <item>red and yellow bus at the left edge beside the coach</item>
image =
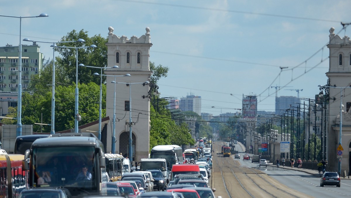
<path fill-rule="evenodd" d="M 0 197 L 17 197 L 26 189 L 23 159 L 24 155 L 20 154 L 0 154 Z"/>

